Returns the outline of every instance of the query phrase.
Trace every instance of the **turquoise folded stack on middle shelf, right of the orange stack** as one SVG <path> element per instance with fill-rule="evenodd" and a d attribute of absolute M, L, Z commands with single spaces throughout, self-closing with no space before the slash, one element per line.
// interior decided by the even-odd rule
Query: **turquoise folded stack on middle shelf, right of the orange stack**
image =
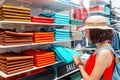
<path fill-rule="evenodd" d="M 70 31 L 63 29 L 54 29 L 55 41 L 70 40 Z"/>

